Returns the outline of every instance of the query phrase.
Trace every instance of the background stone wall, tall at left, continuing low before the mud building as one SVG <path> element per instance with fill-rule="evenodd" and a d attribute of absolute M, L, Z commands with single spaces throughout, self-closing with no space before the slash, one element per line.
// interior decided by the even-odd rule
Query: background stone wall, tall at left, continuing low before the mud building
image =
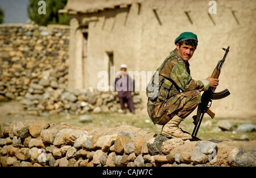
<path fill-rule="evenodd" d="M 69 27 L 0 25 L 0 101 L 19 100 L 30 114 L 120 111 L 117 93 L 68 89 Z M 141 97 L 133 93 L 135 109 Z"/>

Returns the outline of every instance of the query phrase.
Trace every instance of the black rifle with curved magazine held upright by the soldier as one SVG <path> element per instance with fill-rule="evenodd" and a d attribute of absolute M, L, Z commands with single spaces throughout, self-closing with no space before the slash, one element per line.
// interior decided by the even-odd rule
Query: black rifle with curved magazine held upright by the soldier
<path fill-rule="evenodd" d="M 214 69 L 211 78 L 217 78 L 220 76 L 221 68 L 222 65 L 226 59 L 226 56 L 228 55 L 229 52 L 229 47 L 228 48 L 222 48 L 225 51 L 225 55 L 222 60 L 218 61 L 217 67 Z M 222 98 L 225 98 L 229 96 L 229 90 L 225 89 L 222 92 L 218 93 L 213 93 L 212 88 L 209 88 L 207 91 L 205 91 L 202 94 L 201 97 L 201 102 L 197 107 L 197 114 L 194 115 L 193 118 L 193 123 L 195 124 L 192 136 L 193 138 L 196 138 L 197 132 L 199 130 L 199 127 L 201 125 L 201 122 L 203 120 L 204 114 L 207 113 L 209 116 L 213 119 L 214 118 L 214 113 L 209 109 L 209 107 L 212 105 L 212 100 L 220 100 Z"/>

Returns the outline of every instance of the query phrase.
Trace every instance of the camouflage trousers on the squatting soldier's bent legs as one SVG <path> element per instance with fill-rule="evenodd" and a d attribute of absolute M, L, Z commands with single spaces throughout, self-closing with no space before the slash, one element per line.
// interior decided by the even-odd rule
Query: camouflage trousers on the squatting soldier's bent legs
<path fill-rule="evenodd" d="M 147 112 L 154 124 L 165 125 L 174 115 L 186 118 L 201 102 L 199 90 L 178 93 L 163 102 L 148 100 Z"/>

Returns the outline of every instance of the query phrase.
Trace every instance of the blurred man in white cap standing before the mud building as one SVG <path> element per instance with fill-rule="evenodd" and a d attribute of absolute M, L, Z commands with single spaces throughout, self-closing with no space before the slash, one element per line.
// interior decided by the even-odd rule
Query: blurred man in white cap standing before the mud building
<path fill-rule="evenodd" d="M 131 91 L 134 91 L 135 89 L 135 82 L 126 73 L 127 65 L 122 64 L 120 68 L 120 72 L 117 74 L 117 77 L 115 78 L 115 91 L 118 92 L 118 98 L 123 113 L 126 113 L 125 103 L 127 102 L 130 112 L 135 114 L 133 96 L 131 96 Z"/>

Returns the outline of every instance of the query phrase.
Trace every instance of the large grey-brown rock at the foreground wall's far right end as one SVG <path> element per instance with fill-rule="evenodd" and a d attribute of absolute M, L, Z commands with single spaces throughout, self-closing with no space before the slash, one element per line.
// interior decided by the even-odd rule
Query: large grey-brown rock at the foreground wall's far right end
<path fill-rule="evenodd" d="M 228 164 L 236 167 L 255 167 L 256 151 L 234 148 L 228 155 Z"/>

